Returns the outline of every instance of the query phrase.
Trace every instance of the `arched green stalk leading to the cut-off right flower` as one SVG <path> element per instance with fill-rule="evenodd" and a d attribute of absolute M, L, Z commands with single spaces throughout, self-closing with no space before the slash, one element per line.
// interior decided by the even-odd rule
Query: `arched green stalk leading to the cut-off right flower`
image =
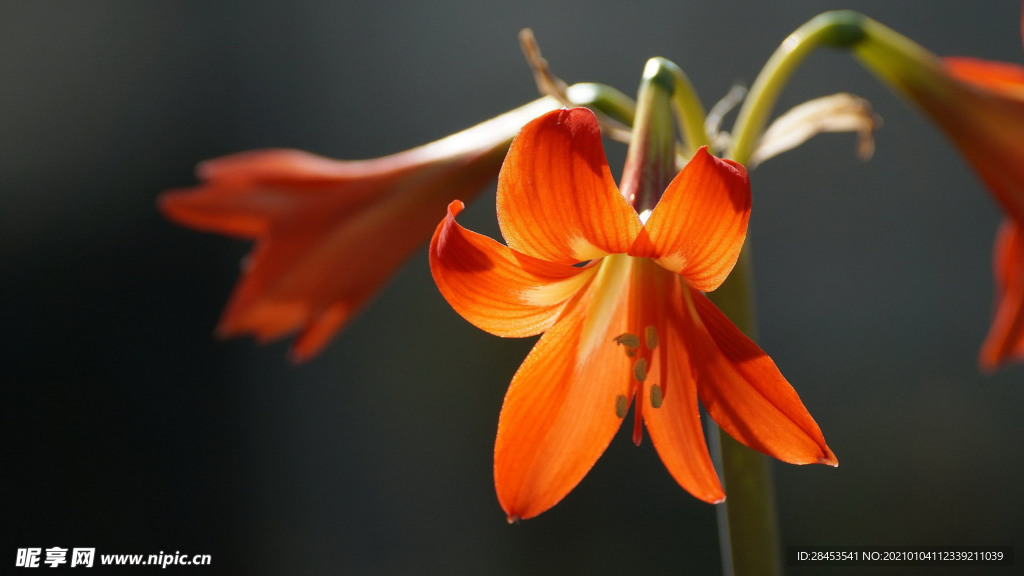
<path fill-rule="evenodd" d="M 865 19 L 860 13 L 849 10 L 824 12 L 782 41 L 761 69 L 743 100 L 732 130 L 730 158 L 740 164 L 750 160 L 782 87 L 804 58 L 819 46 L 849 47 L 856 44 L 864 36 Z"/>

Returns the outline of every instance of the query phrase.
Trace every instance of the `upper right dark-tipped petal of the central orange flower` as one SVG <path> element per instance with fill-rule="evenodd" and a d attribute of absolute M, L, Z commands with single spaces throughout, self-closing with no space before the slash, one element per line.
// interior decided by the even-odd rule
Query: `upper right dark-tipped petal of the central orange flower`
<path fill-rule="evenodd" d="M 630 254 L 653 258 L 710 292 L 736 264 L 750 215 L 746 170 L 705 147 L 669 184 Z"/>

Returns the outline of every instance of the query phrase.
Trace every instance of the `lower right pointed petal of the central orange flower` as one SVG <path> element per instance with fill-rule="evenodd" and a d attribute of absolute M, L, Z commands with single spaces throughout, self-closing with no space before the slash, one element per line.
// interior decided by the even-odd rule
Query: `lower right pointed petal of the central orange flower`
<path fill-rule="evenodd" d="M 837 465 L 817 423 L 768 355 L 703 294 L 690 289 L 672 316 L 690 344 L 697 395 L 711 417 L 732 438 L 784 462 Z"/>

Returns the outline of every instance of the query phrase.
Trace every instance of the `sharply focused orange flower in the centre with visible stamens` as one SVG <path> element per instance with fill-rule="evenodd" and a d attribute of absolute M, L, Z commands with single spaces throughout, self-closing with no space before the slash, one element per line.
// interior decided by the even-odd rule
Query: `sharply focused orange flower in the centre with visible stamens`
<path fill-rule="evenodd" d="M 635 190 L 641 170 L 626 170 Z M 695 497 L 724 498 L 697 399 L 728 434 L 793 463 L 836 464 L 775 364 L 701 293 L 735 264 L 746 171 L 700 149 L 643 214 L 616 190 L 593 114 L 547 114 L 513 140 L 498 180 L 503 246 L 456 222 L 430 245 L 441 293 L 499 336 L 544 333 L 505 397 L 495 483 L 510 521 L 556 504 L 634 406 L 663 462 Z"/>

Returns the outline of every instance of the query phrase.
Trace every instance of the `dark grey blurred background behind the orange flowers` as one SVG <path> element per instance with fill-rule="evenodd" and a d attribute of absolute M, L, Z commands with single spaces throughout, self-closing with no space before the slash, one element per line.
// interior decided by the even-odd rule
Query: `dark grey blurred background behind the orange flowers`
<path fill-rule="evenodd" d="M 213 339 L 248 245 L 176 228 L 154 200 L 206 158 L 375 157 L 532 99 L 523 27 L 570 82 L 632 94 L 664 55 L 710 106 L 841 7 L 940 54 L 1024 61 L 1009 0 L 6 0 L 0 566 L 18 547 L 94 546 L 210 553 L 207 574 L 716 573 L 714 507 L 626 436 L 561 504 L 505 524 L 494 435 L 531 341 L 460 319 L 422 252 L 292 366 L 285 342 Z M 841 462 L 776 464 L 784 542 L 1024 553 L 1024 367 L 976 367 L 998 210 L 939 132 L 844 54 L 813 55 L 779 108 L 841 90 L 886 120 L 874 159 L 829 135 L 753 174 L 762 344 Z M 622 147 L 609 154 L 621 163 Z M 493 199 L 470 228 L 495 234 Z"/>

